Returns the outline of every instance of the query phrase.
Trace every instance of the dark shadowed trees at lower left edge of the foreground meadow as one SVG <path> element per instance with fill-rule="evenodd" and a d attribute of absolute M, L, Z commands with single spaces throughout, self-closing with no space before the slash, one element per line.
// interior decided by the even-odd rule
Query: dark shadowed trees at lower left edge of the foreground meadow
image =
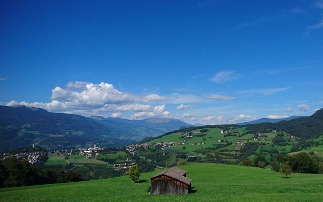
<path fill-rule="evenodd" d="M 61 169 L 41 169 L 16 157 L 0 164 L 0 187 L 28 186 L 82 181 L 81 176 L 73 171 Z"/>

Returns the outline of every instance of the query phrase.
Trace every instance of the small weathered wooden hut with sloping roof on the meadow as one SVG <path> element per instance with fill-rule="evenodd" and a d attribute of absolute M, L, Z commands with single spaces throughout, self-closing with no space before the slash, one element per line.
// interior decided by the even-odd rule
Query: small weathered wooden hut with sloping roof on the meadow
<path fill-rule="evenodd" d="M 150 177 L 150 194 L 189 193 L 192 180 L 186 170 L 174 167 Z"/>

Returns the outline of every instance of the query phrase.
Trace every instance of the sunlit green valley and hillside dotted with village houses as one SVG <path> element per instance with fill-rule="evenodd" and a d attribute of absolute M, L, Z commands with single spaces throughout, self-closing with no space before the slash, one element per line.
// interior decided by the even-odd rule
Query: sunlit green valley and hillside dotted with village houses
<path fill-rule="evenodd" d="M 277 132 L 276 130 L 268 131 L 268 133 L 257 132 L 251 134 L 243 127 L 207 128 L 173 133 L 148 142 L 130 144 L 115 150 L 94 144 L 89 147 L 57 149 L 49 152 L 8 153 L 3 154 L 1 160 L 16 156 L 18 159 L 28 160 L 31 164 L 40 163 L 40 161 L 48 159 L 47 164 L 50 162 L 50 165 L 55 165 L 55 161 L 60 162 L 60 165 L 66 161 L 66 164 L 75 166 L 105 164 L 115 170 L 128 169 L 132 165 L 138 164 L 138 161 L 153 161 L 155 166 L 159 167 L 167 167 L 168 165 L 183 162 L 203 162 L 208 161 L 212 155 L 217 156 L 217 162 L 234 163 L 240 154 L 240 149 L 247 142 L 258 142 L 260 147 L 263 147 L 263 149 L 258 149 L 259 154 L 266 155 L 266 153 L 270 154 L 270 150 L 279 149 L 282 145 L 275 145 L 275 137 L 278 135 L 281 135 L 283 139 L 285 138 L 286 145 L 288 145 L 288 142 L 292 145 L 292 143 L 299 141 L 293 135 L 281 131 Z M 291 146 L 288 148 L 291 148 Z M 148 150 L 149 153 L 153 151 L 154 155 L 159 156 L 158 160 L 154 160 L 151 154 L 148 155 Z M 270 155 L 267 157 L 269 158 Z M 46 165 L 46 161 L 44 163 Z"/>

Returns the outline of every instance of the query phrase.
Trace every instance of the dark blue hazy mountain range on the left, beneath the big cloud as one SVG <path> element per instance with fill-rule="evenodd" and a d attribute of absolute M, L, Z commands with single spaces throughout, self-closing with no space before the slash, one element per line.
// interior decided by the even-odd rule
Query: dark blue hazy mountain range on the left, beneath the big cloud
<path fill-rule="evenodd" d="M 177 119 L 127 120 L 51 113 L 40 108 L 0 106 L 0 151 L 32 144 L 48 149 L 99 143 L 119 147 L 148 136 L 190 127 Z"/>

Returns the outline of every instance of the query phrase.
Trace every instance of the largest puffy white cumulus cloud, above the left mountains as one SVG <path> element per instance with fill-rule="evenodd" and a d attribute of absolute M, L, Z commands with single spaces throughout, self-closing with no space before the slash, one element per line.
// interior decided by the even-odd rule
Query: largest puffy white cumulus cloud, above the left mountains
<path fill-rule="evenodd" d="M 138 95 L 117 90 L 114 85 L 101 82 L 93 84 L 83 81 L 69 82 L 66 87 L 57 86 L 51 90 L 50 103 L 27 103 L 11 100 L 7 106 L 24 105 L 43 108 L 48 111 L 96 115 L 114 111 L 138 112 L 133 117 L 169 117 L 166 106 L 145 105 L 144 103 L 166 100 L 158 94 Z M 114 113 L 117 116 L 118 113 Z"/>

